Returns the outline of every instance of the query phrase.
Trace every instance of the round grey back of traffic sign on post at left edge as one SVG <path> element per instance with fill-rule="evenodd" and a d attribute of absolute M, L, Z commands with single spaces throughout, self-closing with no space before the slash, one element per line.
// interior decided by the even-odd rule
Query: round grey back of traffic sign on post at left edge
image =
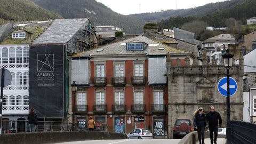
<path fill-rule="evenodd" d="M 2 68 L 0 70 L 1 76 L 1 98 L 0 98 L 0 134 L 2 133 L 2 112 L 3 112 L 3 89 L 5 86 L 11 84 L 12 75 L 9 70 Z"/>

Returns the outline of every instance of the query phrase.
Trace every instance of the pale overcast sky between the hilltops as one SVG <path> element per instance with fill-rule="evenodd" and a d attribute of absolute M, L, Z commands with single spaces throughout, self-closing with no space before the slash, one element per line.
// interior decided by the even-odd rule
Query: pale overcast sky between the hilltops
<path fill-rule="evenodd" d="M 227 0 L 96 0 L 120 14 L 156 12 L 160 10 L 188 9 L 208 3 Z M 177 2 L 177 3 L 176 3 Z"/>

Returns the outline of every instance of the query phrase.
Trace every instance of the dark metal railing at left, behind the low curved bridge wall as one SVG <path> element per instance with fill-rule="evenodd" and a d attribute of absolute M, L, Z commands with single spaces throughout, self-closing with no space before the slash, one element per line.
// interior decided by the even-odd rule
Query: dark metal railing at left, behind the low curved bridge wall
<path fill-rule="evenodd" d="M 45 131 L 87 131 L 87 124 L 38 121 L 36 132 Z M 104 131 L 103 126 L 95 126 L 95 131 Z M 2 120 L 2 133 L 30 132 L 28 121 Z"/>

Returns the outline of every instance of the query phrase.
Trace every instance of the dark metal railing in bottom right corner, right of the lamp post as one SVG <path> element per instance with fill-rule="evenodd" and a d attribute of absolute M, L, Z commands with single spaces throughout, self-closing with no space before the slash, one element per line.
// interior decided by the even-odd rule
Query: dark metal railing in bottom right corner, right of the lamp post
<path fill-rule="evenodd" d="M 253 144 L 256 141 L 256 123 L 230 121 L 231 143 Z"/>

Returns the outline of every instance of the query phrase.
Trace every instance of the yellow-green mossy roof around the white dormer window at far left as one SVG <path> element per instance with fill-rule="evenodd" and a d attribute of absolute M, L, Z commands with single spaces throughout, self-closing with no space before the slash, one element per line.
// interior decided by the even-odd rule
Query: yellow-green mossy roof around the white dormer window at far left
<path fill-rule="evenodd" d="M 11 33 L 9 33 L 0 44 L 29 44 L 34 41 L 39 35 L 44 33 L 44 31 L 49 27 L 49 25 L 29 25 L 23 27 L 14 28 Z M 26 38 L 12 38 L 12 33 L 18 30 L 27 31 Z"/>

